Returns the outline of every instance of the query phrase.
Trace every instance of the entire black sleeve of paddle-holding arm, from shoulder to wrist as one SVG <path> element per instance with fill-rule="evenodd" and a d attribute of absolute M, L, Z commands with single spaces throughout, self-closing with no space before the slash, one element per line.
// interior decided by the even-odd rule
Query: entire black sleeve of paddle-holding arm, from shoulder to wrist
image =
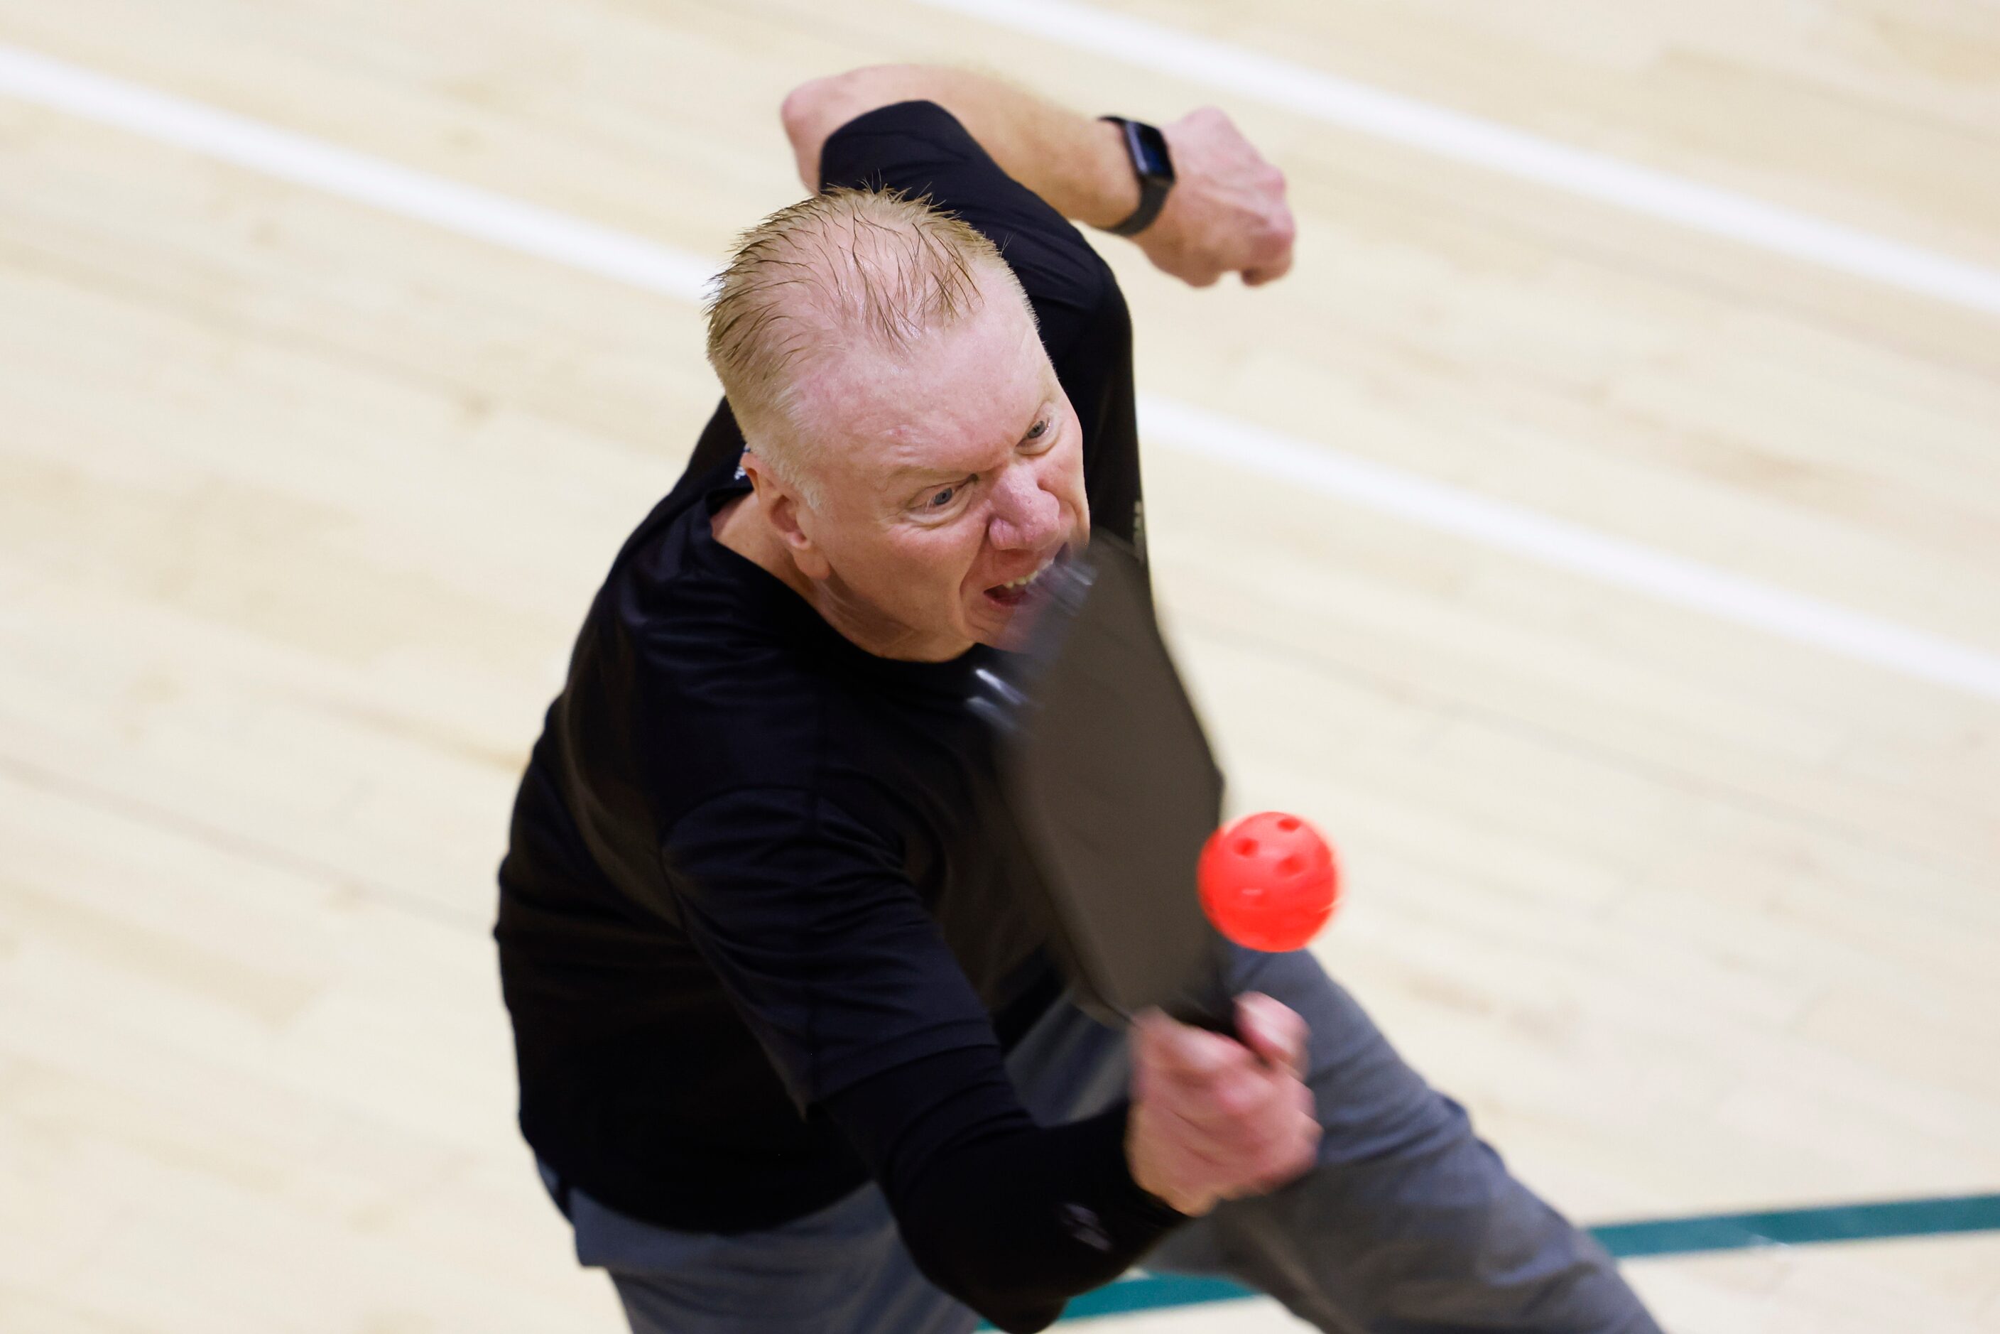
<path fill-rule="evenodd" d="M 1034 1124 L 890 842 L 778 788 L 698 806 L 666 852 L 696 948 L 940 1288 L 1002 1330 L 1040 1330 L 1182 1222 L 1132 1180 L 1124 1106 Z"/>

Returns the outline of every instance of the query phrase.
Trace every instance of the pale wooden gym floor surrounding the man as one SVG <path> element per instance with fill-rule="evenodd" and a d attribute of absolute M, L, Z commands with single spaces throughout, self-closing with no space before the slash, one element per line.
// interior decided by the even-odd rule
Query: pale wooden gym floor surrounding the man
<path fill-rule="evenodd" d="M 1224 78 L 1252 52 L 1358 80 L 1978 286 L 2000 12 L 1116 12 L 1150 46 L 918 0 L 0 0 L 0 56 L 704 264 L 798 194 L 776 106 L 814 74 L 1220 102 L 1292 180 L 1294 276 L 1192 292 L 1096 240 L 1234 804 L 1302 810 L 1350 866 L 1330 966 L 1584 1222 L 2000 1188 L 2000 304 Z M 0 1328 L 616 1330 L 512 1128 L 486 932 L 576 622 L 714 402 L 696 310 L 8 68 Z M 1430 508 L 1274 468 L 1270 436 Z M 1440 484 L 1710 582 L 1530 558 Z M 1690 1334 L 2000 1330 L 2000 1232 L 1628 1272 Z"/>

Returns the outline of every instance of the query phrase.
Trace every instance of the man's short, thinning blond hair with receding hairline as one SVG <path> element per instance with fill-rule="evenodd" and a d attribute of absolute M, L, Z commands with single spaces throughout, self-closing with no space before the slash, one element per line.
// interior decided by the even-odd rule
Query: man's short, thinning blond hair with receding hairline
<path fill-rule="evenodd" d="M 902 190 L 826 190 L 738 236 L 708 296 L 708 364 L 758 458 L 816 502 L 812 442 L 794 414 L 802 370 L 854 346 L 904 352 L 950 328 L 984 304 L 982 266 L 1028 302 L 992 240 Z"/>

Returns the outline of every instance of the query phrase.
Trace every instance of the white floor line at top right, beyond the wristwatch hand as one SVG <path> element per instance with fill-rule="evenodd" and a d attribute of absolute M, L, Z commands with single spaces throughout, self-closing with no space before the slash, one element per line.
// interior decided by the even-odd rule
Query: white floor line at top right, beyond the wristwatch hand
<path fill-rule="evenodd" d="M 916 0 L 1710 236 L 2000 314 L 2000 272 L 1070 0 Z"/>

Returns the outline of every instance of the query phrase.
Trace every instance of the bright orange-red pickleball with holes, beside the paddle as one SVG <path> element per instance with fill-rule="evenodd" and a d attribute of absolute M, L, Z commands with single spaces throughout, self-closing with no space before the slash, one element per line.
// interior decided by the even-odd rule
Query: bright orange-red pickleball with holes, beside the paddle
<path fill-rule="evenodd" d="M 1306 948 L 1340 902 L 1334 850 L 1320 830 L 1282 810 L 1210 834 L 1194 878 L 1216 930 L 1270 954 Z"/>

